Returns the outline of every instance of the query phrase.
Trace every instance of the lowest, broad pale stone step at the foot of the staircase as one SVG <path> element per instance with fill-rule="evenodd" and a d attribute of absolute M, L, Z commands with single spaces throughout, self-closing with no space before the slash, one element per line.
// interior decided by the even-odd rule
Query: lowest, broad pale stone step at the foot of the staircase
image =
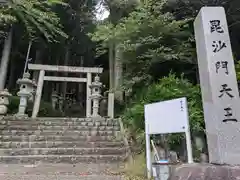
<path fill-rule="evenodd" d="M 124 169 L 125 164 L 121 162 L 113 163 L 77 163 L 74 164 L 65 164 L 65 163 L 36 163 L 36 164 L 2 164 L 0 163 L 0 179 L 1 180 L 10 180 L 4 179 L 3 174 L 7 175 L 16 175 L 21 177 L 23 175 L 45 175 L 47 177 L 51 175 L 110 175 L 111 172 L 120 172 L 121 169 Z M 110 173 L 110 174 L 109 174 Z M 38 178 L 36 178 L 38 179 Z M 36 180 L 32 179 L 32 180 Z M 40 178 L 43 180 L 42 178 Z M 38 179 L 38 180 L 40 180 Z M 50 180 L 49 178 L 48 180 Z M 78 179 L 78 178 L 77 178 Z M 13 180 L 13 179 L 11 179 Z M 20 180 L 25 180 L 24 178 Z M 53 179 L 51 179 L 53 180 Z M 55 179 L 54 179 L 55 180 Z M 57 180 L 57 179 L 56 179 Z M 60 180 L 60 179 L 58 179 Z M 66 178 L 61 180 L 73 180 L 71 178 Z M 75 179 L 76 180 L 76 179 Z"/>

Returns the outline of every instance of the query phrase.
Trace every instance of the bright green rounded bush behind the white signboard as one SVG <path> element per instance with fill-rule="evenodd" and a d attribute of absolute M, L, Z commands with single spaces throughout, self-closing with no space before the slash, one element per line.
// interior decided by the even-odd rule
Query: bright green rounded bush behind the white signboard
<path fill-rule="evenodd" d="M 173 74 L 142 89 L 126 108 L 122 119 L 132 132 L 144 130 L 144 105 L 164 100 L 186 97 L 192 134 L 204 133 L 200 88 L 182 77 Z M 144 136 L 143 136 L 144 137 Z M 172 136 L 171 143 L 179 143 L 179 136 Z"/>

